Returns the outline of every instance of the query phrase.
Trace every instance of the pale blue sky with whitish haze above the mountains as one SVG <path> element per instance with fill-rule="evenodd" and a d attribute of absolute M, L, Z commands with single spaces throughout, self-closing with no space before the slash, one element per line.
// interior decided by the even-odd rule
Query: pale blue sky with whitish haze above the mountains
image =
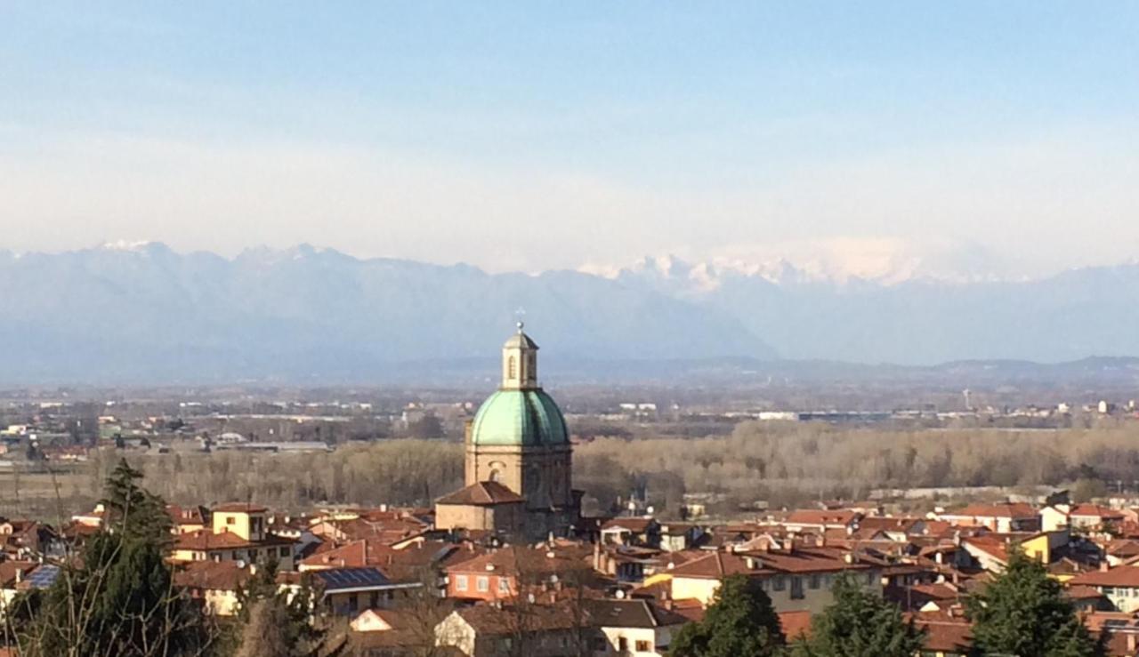
<path fill-rule="evenodd" d="M 0 0 L 0 248 L 1128 262 L 1137 35 L 1108 1 Z"/>

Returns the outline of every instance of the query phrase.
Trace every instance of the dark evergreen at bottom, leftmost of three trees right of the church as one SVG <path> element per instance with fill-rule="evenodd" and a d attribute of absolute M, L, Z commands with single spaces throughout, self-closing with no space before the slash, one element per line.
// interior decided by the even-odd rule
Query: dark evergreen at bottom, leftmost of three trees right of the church
<path fill-rule="evenodd" d="M 724 577 L 699 623 L 685 625 L 672 641 L 674 657 L 775 657 L 787 640 L 771 598 L 757 580 Z"/>

